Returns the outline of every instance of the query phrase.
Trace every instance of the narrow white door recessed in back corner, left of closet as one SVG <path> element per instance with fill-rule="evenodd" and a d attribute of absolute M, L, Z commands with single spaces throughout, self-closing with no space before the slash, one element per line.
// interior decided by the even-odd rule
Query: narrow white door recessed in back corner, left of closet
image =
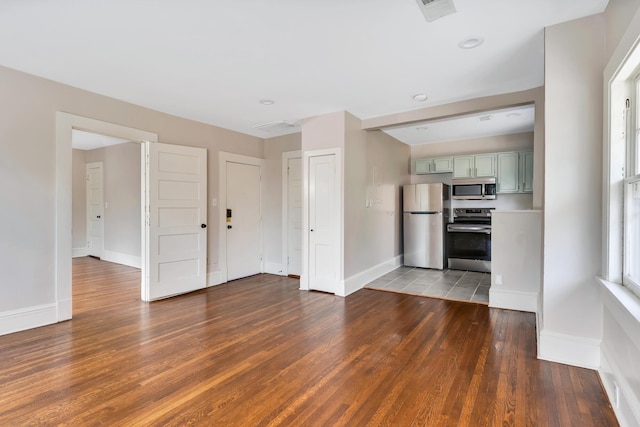
<path fill-rule="evenodd" d="M 287 273 L 302 274 L 302 159 L 287 161 Z"/>

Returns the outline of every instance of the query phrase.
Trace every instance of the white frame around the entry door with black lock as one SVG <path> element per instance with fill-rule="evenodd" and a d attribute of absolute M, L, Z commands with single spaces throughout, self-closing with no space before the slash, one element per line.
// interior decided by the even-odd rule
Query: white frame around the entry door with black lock
<path fill-rule="evenodd" d="M 260 272 L 264 272 L 264 177 L 265 160 L 258 157 L 244 156 L 242 154 L 218 152 L 218 270 L 220 271 L 220 283 L 228 282 L 227 274 L 227 162 L 241 163 L 258 166 L 260 168 Z"/>

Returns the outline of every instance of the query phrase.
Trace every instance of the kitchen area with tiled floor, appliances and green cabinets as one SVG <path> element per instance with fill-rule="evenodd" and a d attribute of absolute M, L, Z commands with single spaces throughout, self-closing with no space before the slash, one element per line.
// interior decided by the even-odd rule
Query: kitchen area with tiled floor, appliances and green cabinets
<path fill-rule="evenodd" d="M 411 184 L 401 202 L 404 265 L 367 287 L 536 311 L 542 230 L 541 211 L 533 209 L 533 107 L 464 119 L 527 115 L 523 131 L 411 146 Z M 447 126 L 453 134 L 459 125 Z M 416 138 L 424 128 L 402 132 Z"/>

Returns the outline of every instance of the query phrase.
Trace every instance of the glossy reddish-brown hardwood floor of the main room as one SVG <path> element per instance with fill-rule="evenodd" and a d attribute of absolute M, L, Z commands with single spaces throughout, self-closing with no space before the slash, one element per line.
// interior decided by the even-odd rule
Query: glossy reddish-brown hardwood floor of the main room
<path fill-rule="evenodd" d="M 145 304 L 74 260 L 74 318 L 0 337 L 0 426 L 614 426 L 532 314 L 258 275 Z"/>

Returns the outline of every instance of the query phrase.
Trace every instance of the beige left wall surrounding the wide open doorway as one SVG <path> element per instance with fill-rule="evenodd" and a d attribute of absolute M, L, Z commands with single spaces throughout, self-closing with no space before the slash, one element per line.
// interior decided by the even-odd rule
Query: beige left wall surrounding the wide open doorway
<path fill-rule="evenodd" d="M 0 67 L 0 93 L 0 198 L 10 207 L 0 213 L 0 271 L 6 286 L 0 313 L 55 303 L 56 111 L 154 132 L 160 142 L 207 148 L 209 200 L 218 193 L 219 151 L 259 158 L 264 154 L 260 138 L 4 67 Z M 71 218 L 68 221 L 71 224 Z M 209 209 L 208 222 L 218 223 L 216 209 Z M 216 229 L 208 228 L 208 271 L 218 269 Z"/>

